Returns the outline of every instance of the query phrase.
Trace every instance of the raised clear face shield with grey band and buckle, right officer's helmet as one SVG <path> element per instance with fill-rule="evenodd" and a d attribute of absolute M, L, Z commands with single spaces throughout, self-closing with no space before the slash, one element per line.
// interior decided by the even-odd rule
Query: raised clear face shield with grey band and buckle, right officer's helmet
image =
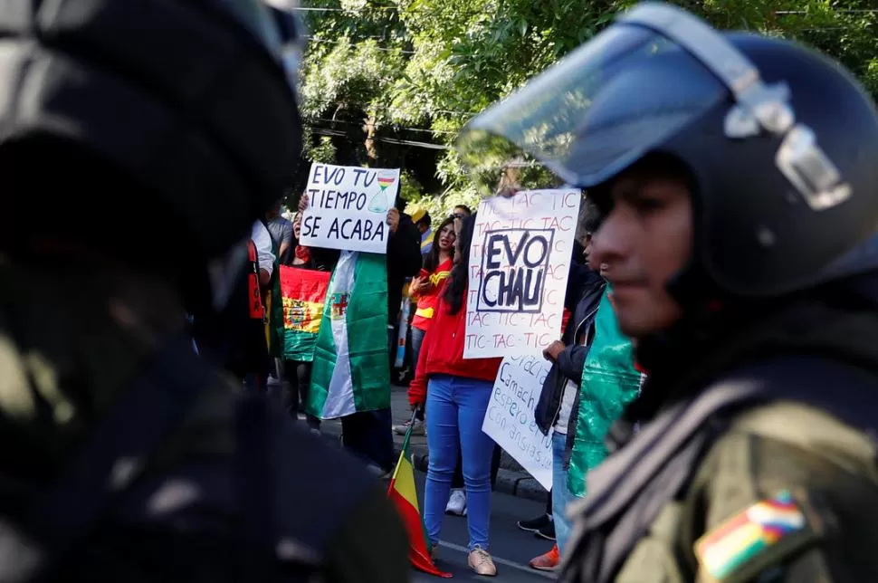
<path fill-rule="evenodd" d="M 518 164 L 522 187 L 547 187 L 548 169 L 568 185 L 606 182 L 687 124 L 729 103 L 728 139 L 762 132 L 783 139 L 778 169 L 816 210 L 850 187 L 797 123 L 787 85 L 767 85 L 720 33 L 680 8 L 638 5 L 611 27 L 467 124 L 457 146 L 470 177 L 496 192 Z M 532 180 L 533 177 L 537 181 Z M 540 184 L 541 182 L 541 184 Z"/>

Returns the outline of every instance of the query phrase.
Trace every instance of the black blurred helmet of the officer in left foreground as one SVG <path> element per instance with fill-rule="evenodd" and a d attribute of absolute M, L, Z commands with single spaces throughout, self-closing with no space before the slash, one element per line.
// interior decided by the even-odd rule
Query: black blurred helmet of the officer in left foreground
<path fill-rule="evenodd" d="M 221 256 L 290 184 L 303 31 L 282 0 L 12 0 L 0 47 L 7 237 L 33 231 L 23 219 L 49 197 L 73 239 L 101 209 L 108 223 L 148 216 L 139 237 L 176 242 L 191 264 Z"/>

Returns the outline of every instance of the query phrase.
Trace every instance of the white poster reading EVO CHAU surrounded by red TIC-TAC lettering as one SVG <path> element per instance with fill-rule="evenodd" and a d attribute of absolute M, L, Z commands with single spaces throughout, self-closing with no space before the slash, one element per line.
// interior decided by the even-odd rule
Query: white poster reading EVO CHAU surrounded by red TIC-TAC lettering
<path fill-rule="evenodd" d="M 479 205 L 463 358 L 526 356 L 560 338 L 581 199 L 530 190 Z"/>

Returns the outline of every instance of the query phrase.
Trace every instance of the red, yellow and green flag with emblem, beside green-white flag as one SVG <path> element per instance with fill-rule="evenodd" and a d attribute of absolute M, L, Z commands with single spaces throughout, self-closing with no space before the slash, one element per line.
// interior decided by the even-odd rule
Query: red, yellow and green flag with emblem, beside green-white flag
<path fill-rule="evenodd" d="M 329 275 L 329 272 L 281 265 L 283 358 L 299 362 L 314 359 Z"/>

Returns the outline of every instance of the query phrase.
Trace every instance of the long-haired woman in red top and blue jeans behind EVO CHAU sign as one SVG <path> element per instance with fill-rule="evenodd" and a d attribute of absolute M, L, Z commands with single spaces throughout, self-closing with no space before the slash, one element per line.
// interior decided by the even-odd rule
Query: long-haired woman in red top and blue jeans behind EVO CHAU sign
<path fill-rule="evenodd" d="M 427 536 L 434 546 L 438 543 L 454 466 L 458 454 L 463 454 L 470 568 L 479 575 L 494 576 L 497 568 L 488 554 L 494 442 L 482 432 L 482 421 L 501 358 L 463 359 L 467 272 L 474 225 L 474 215 L 464 219 L 457 235 L 452 274 L 421 347 L 408 400 L 413 408 L 426 402 L 429 410 L 426 423 L 430 461 L 424 494 Z"/>

